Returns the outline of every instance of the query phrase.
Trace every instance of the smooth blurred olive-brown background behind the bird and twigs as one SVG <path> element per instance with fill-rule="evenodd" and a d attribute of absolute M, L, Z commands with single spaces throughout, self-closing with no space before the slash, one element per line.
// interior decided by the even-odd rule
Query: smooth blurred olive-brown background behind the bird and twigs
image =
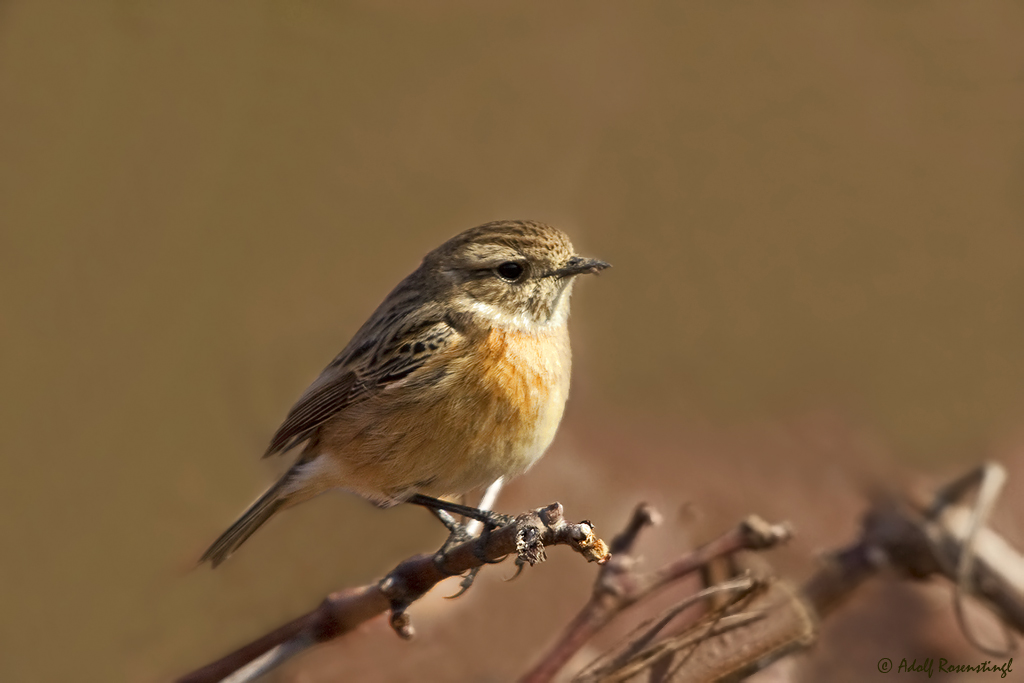
<path fill-rule="evenodd" d="M 790 519 L 799 580 L 865 493 L 997 458 L 1021 543 L 1022 35 L 1011 1 L 0 2 L 0 679 L 166 681 L 434 550 L 335 495 L 195 566 L 307 383 L 497 218 L 615 266 L 499 507 L 607 538 L 651 501 L 651 566 Z M 595 571 L 488 567 L 272 680 L 510 680 Z M 973 660 L 948 595 L 872 583 L 794 675 Z"/>

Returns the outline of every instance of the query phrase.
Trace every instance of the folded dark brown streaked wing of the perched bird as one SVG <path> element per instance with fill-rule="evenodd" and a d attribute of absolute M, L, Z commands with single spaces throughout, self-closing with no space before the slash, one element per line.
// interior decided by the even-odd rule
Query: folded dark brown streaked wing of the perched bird
<path fill-rule="evenodd" d="M 368 341 L 357 343 L 364 335 L 356 335 L 306 389 L 270 439 L 264 458 L 307 440 L 317 427 L 353 403 L 399 382 L 428 380 L 426 375 L 433 375 L 429 368 L 443 373 L 443 362 L 436 361 L 461 337 L 444 319 L 400 326 L 391 335 L 368 336 Z"/>

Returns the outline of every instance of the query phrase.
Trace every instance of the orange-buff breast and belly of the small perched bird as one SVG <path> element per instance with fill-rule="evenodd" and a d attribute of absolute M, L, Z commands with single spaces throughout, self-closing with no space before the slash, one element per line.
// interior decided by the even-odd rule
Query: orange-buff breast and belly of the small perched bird
<path fill-rule="evenodd" d="M 380 501 L 462 494 L 521 474 L 544 454 L 568 396 L 564 326 L 467 335 L 437 364 L 430 384 L 396 385 L 332 423 L 332 485 Z"/>

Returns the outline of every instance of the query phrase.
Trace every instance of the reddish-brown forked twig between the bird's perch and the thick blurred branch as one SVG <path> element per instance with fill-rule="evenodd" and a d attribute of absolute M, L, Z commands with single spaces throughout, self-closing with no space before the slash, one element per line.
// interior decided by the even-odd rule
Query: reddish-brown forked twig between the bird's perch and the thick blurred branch
<path fill-rule="evenodd" d="M 590 601 L 569 623 L 558 642 L 520 679 L 520 683 L 547 683 L 552 680 L 572 655 L 616 614 L 709 561 L 739 550 L 769 548 L 791 536 L 786 525 L 772 525 L 759 517 L 749 517 L 732 530 L 660 569 L 638 574 L 634 570 L 636 560 L 631 555 L 633 546 L 640 531 L 656 523 L 657 519 L 657 513 L 650 506 L 637 506 L 629 524 L 611 542 L 611 559 L 601 568 Z"/>

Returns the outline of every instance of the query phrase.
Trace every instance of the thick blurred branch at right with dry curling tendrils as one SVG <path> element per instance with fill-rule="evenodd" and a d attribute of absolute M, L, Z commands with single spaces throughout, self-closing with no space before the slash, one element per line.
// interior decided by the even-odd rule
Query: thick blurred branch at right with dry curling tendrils
<path fill-rule="evenodd" d="M 934 575 L 947 579 L 954 587 L 954 607 L 965 635 L 982 651 L 1006 656 L 1004 650 L 984 647 L 972 638 L 958 611 L 963 595 L 970 593 L 988 604 L 1004 624 L 1018 631 L 1024 629 L 1024 556 L 985 525 L 1005 479 L 1001 467 L 985 464 L 944 486 L 931 501 L 879 500 L 864 516 L 857 542 L 834 553 L 802 589 L 766 578 L 749 593 L 733 594 L 695 618 L 680 620 L 677 615 L 693 602 L 693 597 L 688 598 L 663 612 L 653 627 L 651 623 L 641 625 L 573 680 L 610 683 L 638 680 L 637 676 L 677 683 L 739 680 L 813 643 L 821 618 L 883 569 L 895 570 L 910 580 Z M 978 492 L 976 500 L 966 505 L 963 499 L 974 489 Z M 735 537 L 730 536 L 706 549 L 734 546 Z M 771 543 L 770 532 L 754 536 Z M 622 556 L 616 557 L 616 561 L 622 560 Z M 680 558 L 651 577 L 671 581 L 692 570 L 693 563 L 691 557 Z M 635 581 L 636 592 L 649 586 L 642 580 Z M 740 581 L 731 585 L 743 584 Z M 709 590 L 697 595 L 710 598 L 727 594 Z M 628 602 L 617 597 L 615 600 Z M 588 616 L 593 618 L 594 613 Z M 670 622 L 676 624 L 677 633 L 662 635 Z M 1007 642 L 1008 647 L 1013 645 L 1009 632 Z M 564 641 L 560 646 L 564 647 Z M 565 656 L 556 659 L 552 671 L 558 671 L 566 661 Z M 542 676 L 527 680 L 549 679 Z"/>

